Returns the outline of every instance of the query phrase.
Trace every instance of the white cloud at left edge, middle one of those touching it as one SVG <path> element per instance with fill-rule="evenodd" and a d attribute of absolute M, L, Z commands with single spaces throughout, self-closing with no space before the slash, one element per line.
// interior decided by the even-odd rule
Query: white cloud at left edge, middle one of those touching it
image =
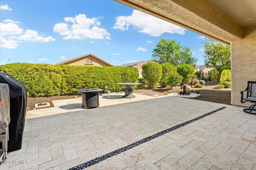
<path fill-rule="evenodd" d="M 0 35 L 19 35 L 22 31 L 16 23 L 0 23 Z"/>

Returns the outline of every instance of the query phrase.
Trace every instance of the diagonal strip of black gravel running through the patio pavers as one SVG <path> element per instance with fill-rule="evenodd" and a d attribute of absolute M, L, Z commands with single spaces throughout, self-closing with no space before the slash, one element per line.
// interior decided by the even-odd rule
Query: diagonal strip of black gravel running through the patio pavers
<path fill-rule="evenodd" d="M 142 143 L 148 142 L 148 141 L 150 141 L 150 140 L 152 140 L 152 139 L 155 139 L 155 138 L 157 138 L 157 137 L 159 137 L 159 136 L 161 136 L 161 135 L 164 135 L 164 134 L 166 134 L 166 133 L 168 133 L 168 132 L 174 131 L 175 129 L 178 129 L 178 128 L 180 128 L 180 127 L 183 127 L 183 126 L 185 126 L 185 125 L 188 125 L 188 124 L 190 124 L 190 123 L 192 123 L 192 122 L 194 122 L 194 121 L 197 121 L 197 120 L 199 120 L 199 119 L 202 119 L 203 117 L 206 117 L 206 116 L 208 116 L 208 115 L 211 115 L 211 114 L 213 114 L 213 113 L 216 113 L 217 111 L 220 111 L 220 110 L 225 109 L 225 108 L 226 108 L 226 107 L 221 107 L 221 108 L 219 108 L 219 109 L 216 109 L 216 110 L 214 110 L 214 111 L 211 111 L 211 112 L 209 112 L 209 113 L 206 113 L 206 114 L 204 114 L 204 115 L 202 115 L 202 116 L 196 117 L 196 118 L 194 118 L 194 119 L 191 119 L 191 120 L 186 121 L 186 122 L 184 122 L 184 123 L 181 123 L 181 124 L 179 124 L 179 125 L 176 125 L 176 126 L 174 126 L 174 127 L 171 127 L 170 129 L 166 129 L 166 130 L 164 130 L 164 131 L 162 131 L 162 132 L 159 132 L 159 133 L 156 133 L 156 134 L 154 134 L 154 135 L 152 135 L 152 136 L 150 136 L 150 137 L 146 137 L 146 138 L 144 138 L 144 139 L 142 139 L 142 140 L 140 140 L 140 141 L 134 142 L 134 143 L 132 143 L 132 144 L 130 144 L 130 145 L 127 145 L 126 147 L 117 149 L 117 150 L 115 150 L 115 151 L 113 151 L 113 152 L 104 154 L 104 155 L 102 155 L 102 156 L 100 156 L 100 157 L 98 157 L 98 158 L 92 159 L 92 160 L 90 160 L 90 161 L 88 161 L 88 162 L 85 162 L 85 163 L 83 163 L 83 164 L 80 164 L 80 165 L 78 165 L 78 166 L 75 166 L 75 167 L 73 167 L 73 168 L 70 168 L 69 170 L 81 170 L 81 169 L 87 168 L 87 167 L 89 167 L 89 166 L 92 166 L 92 165 L 94 165 L 94 164 L 97 164 L 98 162 L 101 162 L 101 161 L 103 161 L 103 160 L 106 160 L 106 159 L 108 159 L 108 158 L 110 158 L 110 157 L 112 157 L 112 156 L 115 156 L 115 155 L 117 155 L 117 154 L 120 154 L 120 153 L 122 153 L 122 152 L 124 152 L 124 151 L 126 151 L 126 150 L 132 149 L 132 148 L 134 148 L 134 147 L 136 147 L 136 146 L 138 146 L 138 145 L 140 145 L 140 144 L 142 144 Z"/>

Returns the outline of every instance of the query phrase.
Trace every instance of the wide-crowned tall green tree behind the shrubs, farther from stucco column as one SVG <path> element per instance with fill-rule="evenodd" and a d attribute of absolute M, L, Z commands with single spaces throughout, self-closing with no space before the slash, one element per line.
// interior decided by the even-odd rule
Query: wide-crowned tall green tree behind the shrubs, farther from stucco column
<path fill-rule="evenodd" d="M 171 63 L 174 66 L 180 64 L 191 64 L 196 66 L 197 59 L 192 56 L 192 50 L 188 47 L 182 47 L 179 43 L 176 43 L 175 39 L 162 39 L 156 48 L 152 51 L 152 58 L 157 63 Z"/>

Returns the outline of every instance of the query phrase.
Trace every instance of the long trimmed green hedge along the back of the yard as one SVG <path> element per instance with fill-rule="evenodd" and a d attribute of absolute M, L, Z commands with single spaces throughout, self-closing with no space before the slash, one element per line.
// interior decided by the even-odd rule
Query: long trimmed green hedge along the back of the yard
<path fill-rule="evenodd" d="M 137 82 L 139 73 L 134 67 L 70 66 L 54 64 L 13 63 L 0 65 L 24 84 L 29 97 L 77 94 L 81 88 L 104 88 L 110 92 L 124 91 L 119 82 Z"/>

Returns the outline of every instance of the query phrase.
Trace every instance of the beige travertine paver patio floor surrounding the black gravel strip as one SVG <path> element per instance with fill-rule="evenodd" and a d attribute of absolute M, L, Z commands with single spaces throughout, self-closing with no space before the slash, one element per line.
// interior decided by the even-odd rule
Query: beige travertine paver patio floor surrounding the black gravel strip
<path fill-rule="evenodd" d="M 28 164 L 1 165 L 0 169 L 72 168 L 225 106 L 86 169 L 256 170 L 256 115 L 211 102 L 147 97 L 110 106 L 102 103 L 94 109 L 74 111 L 74 107 L 66 113 L 35 110 L 34 118 L 28 112 L 22 149 L 9 156 L 9 160 L 28 160 Z"/>

